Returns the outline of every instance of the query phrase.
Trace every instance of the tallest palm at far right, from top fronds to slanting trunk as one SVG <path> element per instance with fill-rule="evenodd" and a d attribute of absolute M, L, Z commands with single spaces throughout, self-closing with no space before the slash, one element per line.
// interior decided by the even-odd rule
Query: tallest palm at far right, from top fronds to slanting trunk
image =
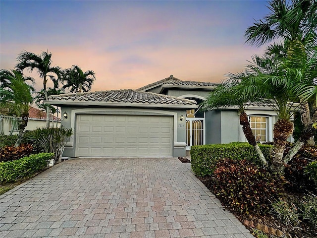
<path fill-rule="evenodd" d="M 314 122 L 312 119 L 317 119 L 317 116 L 311 117 L 310 115 L 311 112 L 308 106 L 308 99 L 310 97 L 306 97 L 306 100 L 304 100 L 305 97 L 301 95 L 301 93 L 307 92 L 308 87 L 314 85 L 314 68 L 313 70 L 312 68 L 309 69 L 307 63 L 313 65 L 309 58 L 314 55 L 316 57 L 316 54 L 312 54 L 312 51 L 316 52 L 317 1 L 293 0 L 289 2 L 286 0 L 271 0 L 268 8 L 271 10 L 271 13 L 249 27 L 245 32 L 245 36 L 247 43 L 257 46 L 262 46 L 274 40 L 283 41 L 286 55 L 284 56 L 284 61 L 278 61 L 279 64 L 277 66 L 283 65 L 283 70 L 279 71 L 287 72 L 285 75 L 287 79 L 285 79 L 284 82 L 283 78 L 275 79 L 278 79 L 278 84 L 285 86 L 281 88 L 284 92 L 287 88 L 288 93 L 293 93 L 300 99 L 301 118 L 305 125 L 305 129 L 300 136 L 301 140 L 296 142 L 294 148 L 288 155 L 287 160 L 289 161 L 292 156 L 296 154 L 295 152 L 306 143 L 307 140 L 305 142 L 303 142 L 303 140 L 307 139 L 309 135 L 312 135 L 311 128 Z M 280 55 L 275 54 L 275 57 L 280 58 Z M 314 59 L 314 57 L 310 59 Z M 274 75 L 271 76 L 273 77 Z M 283 76 L 283 74 L 279 76 Z M 272 77 L 271 79 L 273 79 Z M 292 82 L 293 80 L 295 82 Z M 303 88 L 304 82 L 306 82 L 306 89 Z M 298 90 L 299 88 L 301 90 Z M 272 90 L 276 91 L 276 89 Z M 283 128 L 276 125 L 274 130 L 279 134 L 282 133 Z M 281 151 L 277 153 L 281 154 Z M 287 160 L 285 160 L 285 162 L 287 162 Z"/>

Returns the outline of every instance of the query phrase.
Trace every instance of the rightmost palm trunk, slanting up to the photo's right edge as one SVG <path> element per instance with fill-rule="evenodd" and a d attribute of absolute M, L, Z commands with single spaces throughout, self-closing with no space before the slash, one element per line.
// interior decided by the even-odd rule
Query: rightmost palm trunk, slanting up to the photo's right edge
<path fill-rule="evenodd" d="M 313 127 L 313 124 L 317 122 L 317 110 L 315 111 L 311 121 L 306 123 L 305 128 L 302 130 L 298 140 L 294 144 L 293 148 L 288 152 L 284 158 L 284 163 L 287 164 L 290 162 L 293 157 L 299 152 L 299 150 L 307 143 L 307 141 L 314 136 L 316 129 Z"/>

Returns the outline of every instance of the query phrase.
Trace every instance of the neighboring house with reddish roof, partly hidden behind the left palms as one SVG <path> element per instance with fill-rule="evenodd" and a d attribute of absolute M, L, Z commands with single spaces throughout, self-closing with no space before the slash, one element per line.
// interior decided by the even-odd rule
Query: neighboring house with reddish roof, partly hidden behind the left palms
<path fill-rule="evenodd" d="M 53 121 L 51 124 L 54 123 L 54 127 L 56 127 L 56 120 L 57 120 L 57 127 L 60 126 L 60 118 L 53 116 Z M 25 130 L 34 130 L 38 127 L 45 127 L 46 126 L 46 112 L 39 110 L 34 107 L 29 107 L 29 120 Z M 10 117 L 6 115 L 0 115 L 0 132 L 4 135 L 17 134 L 19 130 L 19 123 L 15 117 Z"/>

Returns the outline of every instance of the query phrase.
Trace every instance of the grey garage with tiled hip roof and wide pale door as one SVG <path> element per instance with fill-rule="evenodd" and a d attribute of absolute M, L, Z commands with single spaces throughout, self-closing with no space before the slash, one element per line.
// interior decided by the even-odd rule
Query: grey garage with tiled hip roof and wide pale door
<path fill-rule="evenodd" d="M 72 128 L 64 157 L 185 156 L 186 110 L 196 101 L 132 89 L 51 95 Z"/>

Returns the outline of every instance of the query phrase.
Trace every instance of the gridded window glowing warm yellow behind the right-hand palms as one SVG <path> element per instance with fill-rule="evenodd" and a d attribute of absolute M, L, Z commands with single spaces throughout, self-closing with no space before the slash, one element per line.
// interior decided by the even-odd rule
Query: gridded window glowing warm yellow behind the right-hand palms
<path fill-rule="evenodd" d="M 257 142 L 268 141 L 267 117 L 249 117 L 250 127 Z"/>

